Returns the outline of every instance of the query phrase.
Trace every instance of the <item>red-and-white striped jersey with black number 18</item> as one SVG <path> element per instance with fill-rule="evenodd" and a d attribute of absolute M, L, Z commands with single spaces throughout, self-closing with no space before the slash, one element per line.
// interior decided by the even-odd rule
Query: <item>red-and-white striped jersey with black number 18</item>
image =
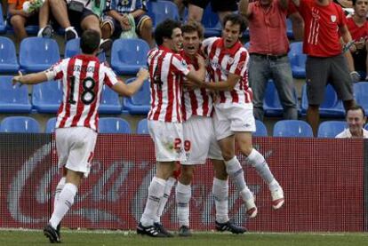
<path fill-rule="evenodd" d="M 48 80 L 62 80 L 63 98 L 56 128 L 84 126 L 97 131 L 101 91 L 117 83 L 111 68 L 96 57 L 76 55 L 60 60 L 46 71 Z"/>

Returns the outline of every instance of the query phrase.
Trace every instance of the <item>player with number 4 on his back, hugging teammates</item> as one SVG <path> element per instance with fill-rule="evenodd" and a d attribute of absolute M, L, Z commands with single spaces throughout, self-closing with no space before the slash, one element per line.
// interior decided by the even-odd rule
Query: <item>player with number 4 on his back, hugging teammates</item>
<path fill-rule="evenodd" d="M 172 177 L 175 162 L 185 160 L 183 146 L 181 85 L 186 76 L 195 83 L 204 81 L 204 60 L 198 59 L 198 70 L 188 69 L 187 63 L 177 52 L 183 38 L 180 22 L 164 20 L 155 30 L 158 48 L 148 52 L 151 81 L 151 109 L 148 113 L 148 131 L 155 142 L 156 176 L 148 187 L 148 200 L 138 234 L 152 237 L 171 236 L 162 225 L 155 225 L 160 200 L 164 197 L 166 180 Z"/>

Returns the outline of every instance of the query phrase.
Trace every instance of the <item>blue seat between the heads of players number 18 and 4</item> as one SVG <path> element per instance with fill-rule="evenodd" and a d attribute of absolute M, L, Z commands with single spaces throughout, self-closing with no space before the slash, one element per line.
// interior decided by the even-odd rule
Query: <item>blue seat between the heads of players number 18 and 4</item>
<path fill-rule="evenodd" d="M 140 67 L 147 67 L 148 51 L 148 44 L 142 39 L 116 39 L 111 50 L 111 67 L 119 75 L 136 75 Z"/>

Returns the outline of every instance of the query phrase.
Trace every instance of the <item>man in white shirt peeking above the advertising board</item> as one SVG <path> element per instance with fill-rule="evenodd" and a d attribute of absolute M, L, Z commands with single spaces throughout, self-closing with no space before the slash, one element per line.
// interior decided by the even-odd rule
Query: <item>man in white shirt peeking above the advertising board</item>
<path fill-rule="evenodd" d="M 347 112 L 347 123 L 348 129 L 340 132 L 336 138 L 339 139 L 356 139 L 363 138 L 368 139 L 368 131 L 364 129 L 364 124 L 367 120 L 367 117 L 364 112 L 364 108 L 356 105 L 348 109 Z"/>

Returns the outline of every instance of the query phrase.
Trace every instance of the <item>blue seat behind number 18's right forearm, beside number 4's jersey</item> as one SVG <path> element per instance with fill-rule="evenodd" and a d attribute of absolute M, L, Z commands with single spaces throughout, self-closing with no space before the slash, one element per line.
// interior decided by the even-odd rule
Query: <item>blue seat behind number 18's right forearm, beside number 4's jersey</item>
<path fill-rule="evenodd" d="M 131 83 L 135 78 L 126 80 Z M 151 92 L 149 90 L 149 82 L 145 81 L 140 91 L 132 95 L 130 98 L 123 98 L 124 109 L 128 110 L 131 115 L 147 115 L 150 108 Z"/>

